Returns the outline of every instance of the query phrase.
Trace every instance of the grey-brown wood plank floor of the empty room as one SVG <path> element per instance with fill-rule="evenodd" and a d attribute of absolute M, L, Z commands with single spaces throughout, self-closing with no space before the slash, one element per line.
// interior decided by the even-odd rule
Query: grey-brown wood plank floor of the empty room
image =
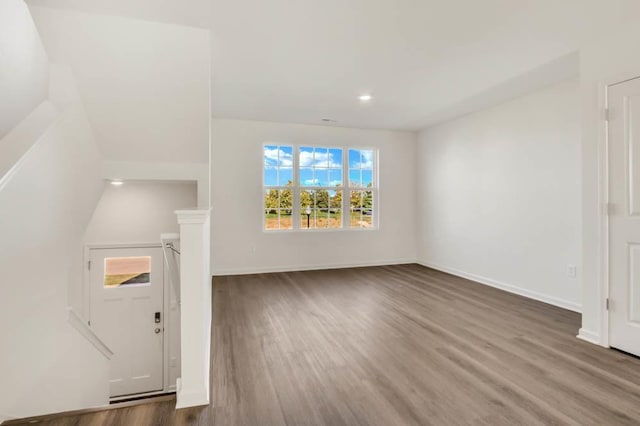
<path fill-rule="evenodd" d="M 48 425 L 638 425 L 640 360 L 580 316 L 417 265 L 214 280 L 211 407 Z"/>

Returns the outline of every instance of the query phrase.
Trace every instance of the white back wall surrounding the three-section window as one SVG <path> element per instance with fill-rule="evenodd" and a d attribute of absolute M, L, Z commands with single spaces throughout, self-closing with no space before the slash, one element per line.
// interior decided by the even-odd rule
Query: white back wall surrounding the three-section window
<path fill-rule="evenodd" d="M 379 230 L 263 232 L 265 142 L 378 148 Z M 211 158 L 214 275 L 413 261 L 414 157 L 413 133 L 214 119 Z"/>

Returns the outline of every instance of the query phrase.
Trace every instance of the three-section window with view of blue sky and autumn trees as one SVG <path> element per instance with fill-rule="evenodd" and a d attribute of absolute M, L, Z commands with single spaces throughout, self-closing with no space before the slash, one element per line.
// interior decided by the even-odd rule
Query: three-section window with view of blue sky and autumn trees
<path fill-rule="evenodd" d="M 264 229 L 373 229 L 376 151 L 264 145 Z"/>

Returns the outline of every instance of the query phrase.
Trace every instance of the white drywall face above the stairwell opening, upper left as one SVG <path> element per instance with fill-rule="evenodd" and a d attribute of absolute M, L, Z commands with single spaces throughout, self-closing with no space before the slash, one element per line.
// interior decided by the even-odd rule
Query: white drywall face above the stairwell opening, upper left
<path fill-rule="evenodd" d="M 103 157 L 204 163 L 209 157 L 209 31 L 31 7 L 53 63 L 67 64 Z"/>

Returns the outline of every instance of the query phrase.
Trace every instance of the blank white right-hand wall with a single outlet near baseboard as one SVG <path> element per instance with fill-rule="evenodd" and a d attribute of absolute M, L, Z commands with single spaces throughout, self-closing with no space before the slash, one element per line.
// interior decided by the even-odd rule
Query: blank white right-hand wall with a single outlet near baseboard
<path fill-rule="evenodd" d="M 579 110 L 568 80 L 421 132 L 419 260 L 579 310 Z"/>

